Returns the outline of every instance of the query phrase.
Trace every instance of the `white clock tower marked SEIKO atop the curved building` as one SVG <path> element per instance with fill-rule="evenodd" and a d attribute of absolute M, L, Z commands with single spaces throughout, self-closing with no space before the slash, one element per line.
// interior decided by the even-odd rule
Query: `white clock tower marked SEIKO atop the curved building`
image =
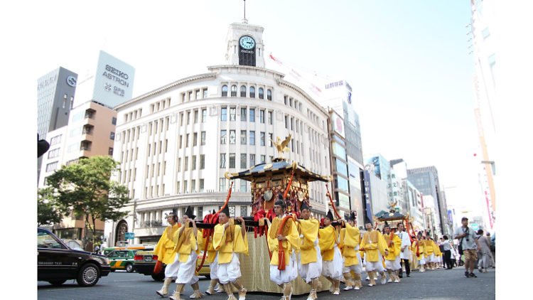
<path fill-rule="evenodd" d="M 226 64 L 264 68 L 263 31 L 262 26 L 251 25 L 246 18 L 242 23 L 232 23 L 226 36 Z"/>

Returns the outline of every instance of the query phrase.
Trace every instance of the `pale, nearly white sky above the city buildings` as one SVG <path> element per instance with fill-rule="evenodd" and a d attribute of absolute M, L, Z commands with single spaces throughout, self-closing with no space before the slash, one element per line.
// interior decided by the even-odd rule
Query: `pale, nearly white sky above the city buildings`
<path fill-rule="evenodd" d="M 46 58 L 36 77 L 59 65 L 82 75 L 105 50 L 136 68 L 135 97 L 224 64 L 227 28 L 243 14 L 239 0 L 128 5 L 36 4 L 48 28 L 65 28 L 60 39 L 36 35 Z M 469 1 L 249 0 L 247 18 L 265 28 L 266 53 L 350 83 L 364 153 L 434 165 L 457 202 L 480 208 Z"/>

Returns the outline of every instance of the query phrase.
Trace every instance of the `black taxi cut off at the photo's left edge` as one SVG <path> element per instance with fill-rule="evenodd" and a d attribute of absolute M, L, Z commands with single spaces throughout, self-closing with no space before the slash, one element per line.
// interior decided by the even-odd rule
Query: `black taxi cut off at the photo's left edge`
<path fill-rule="evenodd" d="M 76 279 L 80 286 L 94 286 L 111 272 L 109 259 L 96 253 L 71 250 L 52 232 L 37 228 L 37 280 L 61 285 Z"/>

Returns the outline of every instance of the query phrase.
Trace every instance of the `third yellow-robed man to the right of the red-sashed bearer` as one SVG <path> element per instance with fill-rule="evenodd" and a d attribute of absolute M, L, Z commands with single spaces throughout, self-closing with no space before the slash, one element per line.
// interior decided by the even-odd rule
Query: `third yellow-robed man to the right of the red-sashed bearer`
<path fill-rule="evenodd" d="M 346 227 L 340 230 L 340 248 L 343 254 L 343 276 L 345 279 L 345 291 L 361 288 L 362 262 L 359 252 L 360 232 L 355 226 L 355 213 L 348 217 Z M 351 272 L 355 277 L 352 278 Z"/>

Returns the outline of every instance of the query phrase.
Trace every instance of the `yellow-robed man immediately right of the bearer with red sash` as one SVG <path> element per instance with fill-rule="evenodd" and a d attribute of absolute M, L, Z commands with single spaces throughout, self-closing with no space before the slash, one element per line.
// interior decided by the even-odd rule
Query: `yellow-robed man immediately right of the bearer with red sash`
<path fill-rule="evenodd" d="M 301 242 L 298 252 L 298 272 L 300 277 L 311 285 L 311 293 L 307 300 L 314 300 L 317 298 L 318 277 L 321 277 L 322 273 L 321 248 L 318 246 L 320 222 L 311 217 L 311 210 L 305 202 L 300 209 L 303 220 L 296 219 Z"/>

